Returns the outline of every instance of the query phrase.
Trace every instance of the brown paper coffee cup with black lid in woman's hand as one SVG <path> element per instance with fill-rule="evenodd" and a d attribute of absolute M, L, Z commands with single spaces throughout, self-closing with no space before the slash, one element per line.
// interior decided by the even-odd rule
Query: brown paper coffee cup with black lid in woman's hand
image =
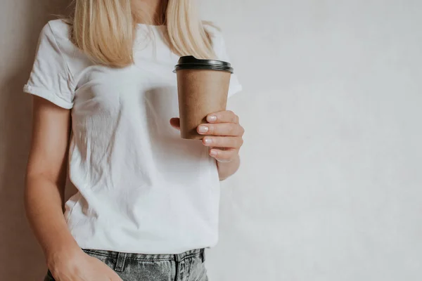
<path fill-rule="evenodd" d="M 233 68 L 221 60 L 179 59 L 177 73 L 181 138 L 202 139 L 196 130 L 210 113 L 226 110 Z"/>

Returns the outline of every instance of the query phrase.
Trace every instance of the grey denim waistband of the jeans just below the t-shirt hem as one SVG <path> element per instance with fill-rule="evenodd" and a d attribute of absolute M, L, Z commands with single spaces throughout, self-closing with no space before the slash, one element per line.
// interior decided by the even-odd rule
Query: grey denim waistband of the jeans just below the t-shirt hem
<path fill-rule="evenodd" d="M 83 249 L 83 251 L 87 254 L 106 256 L 108 258 L 115 259 L 120 258 L 120 256 L 124 256 L 124 259 L 134 259 L 136 261 L 183 261 L 184 259 L 188 259 L 193 256 L 201 256 L 203 261 L 205 261 L 205 249 L 193 249 L 181 254 L 132 254 L 96 249 Z"/>

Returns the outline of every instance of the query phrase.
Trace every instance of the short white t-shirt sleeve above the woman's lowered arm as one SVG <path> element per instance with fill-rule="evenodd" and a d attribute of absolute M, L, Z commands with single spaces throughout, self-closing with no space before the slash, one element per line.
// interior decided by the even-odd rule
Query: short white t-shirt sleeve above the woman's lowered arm
<path fill-rule="evenodd" d="M 72 75 L 49 23 L 39 36 L 34 66 L 23 91 L 66 109 L 73 107 Z"/>

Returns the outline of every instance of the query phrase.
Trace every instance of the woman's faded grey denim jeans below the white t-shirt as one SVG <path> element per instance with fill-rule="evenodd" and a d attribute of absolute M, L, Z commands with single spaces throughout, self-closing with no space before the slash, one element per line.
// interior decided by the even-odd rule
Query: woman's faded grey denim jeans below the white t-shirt
<path fill-rule="evenodd" d="M 123 281 L 208 281 L 204 249 L 157 255 L 90 249 L 84 252 L 106 263 Z M 44 281 L 54 281 L 50 271 Z"/>

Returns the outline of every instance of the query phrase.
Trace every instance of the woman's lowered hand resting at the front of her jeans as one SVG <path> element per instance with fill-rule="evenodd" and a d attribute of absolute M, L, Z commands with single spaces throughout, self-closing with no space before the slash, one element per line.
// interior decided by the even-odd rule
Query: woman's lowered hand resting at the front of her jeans
<path fill-rule="evenodd" d="M 82 249 L 56 252 L 47 258 L 47 265 L 56 281 L 122 281 L 114 270 Z"/>

